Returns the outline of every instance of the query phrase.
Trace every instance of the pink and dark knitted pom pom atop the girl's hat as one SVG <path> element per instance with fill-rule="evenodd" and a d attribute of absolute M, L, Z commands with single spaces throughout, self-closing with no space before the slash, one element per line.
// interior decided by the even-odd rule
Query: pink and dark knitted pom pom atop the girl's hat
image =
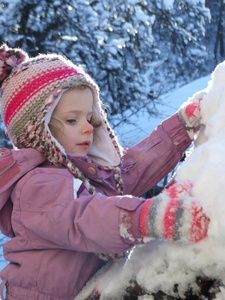
<path fill-rule="evenodd" d="M 12 69 L 28 58 L 28 55 L 18 48 L 8 48 L 6 44 L 0 47 L 0 87 L 10 75 Z"/>

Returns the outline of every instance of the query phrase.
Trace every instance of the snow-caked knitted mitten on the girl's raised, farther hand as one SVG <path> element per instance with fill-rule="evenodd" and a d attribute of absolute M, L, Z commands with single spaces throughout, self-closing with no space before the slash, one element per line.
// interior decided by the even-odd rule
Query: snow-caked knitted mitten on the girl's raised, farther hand
<path fill-rule="evenodd" d="M 194 94 L 194 96 L 189 98 L 187 102 L 184 102 L 178 110 L 179 119 L 191 139 L 194 139 L 194 135 L 200 127 L 200 101 L 204 97 L 205 93 L 205 90 L 203 90 Z"/>

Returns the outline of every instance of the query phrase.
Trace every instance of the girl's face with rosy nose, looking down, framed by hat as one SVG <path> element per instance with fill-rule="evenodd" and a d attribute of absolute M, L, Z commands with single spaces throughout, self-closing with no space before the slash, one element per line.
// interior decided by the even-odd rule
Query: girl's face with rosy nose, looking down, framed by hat
<path fill-rule="evenodd" d="M 93 142 L 92 114 L 93 95 L 89 88 L 73 88 L 63 93 L 50 123 L 60 125 L 60 130 L 52 134 L 66 153 L 88 154 Z"/>

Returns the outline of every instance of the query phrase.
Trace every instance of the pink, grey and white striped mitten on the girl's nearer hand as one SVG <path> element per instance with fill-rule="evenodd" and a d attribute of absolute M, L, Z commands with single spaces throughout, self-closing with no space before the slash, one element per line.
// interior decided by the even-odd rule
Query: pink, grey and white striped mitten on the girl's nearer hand
<path fill-rule="evenodd" d="M 146 200 L 140 214 L 144 237 L 198 242 L 207 236 L 209 218 L 200 203 L 189 195 L 192 184 L 174 183 L 158 196 Z"/>

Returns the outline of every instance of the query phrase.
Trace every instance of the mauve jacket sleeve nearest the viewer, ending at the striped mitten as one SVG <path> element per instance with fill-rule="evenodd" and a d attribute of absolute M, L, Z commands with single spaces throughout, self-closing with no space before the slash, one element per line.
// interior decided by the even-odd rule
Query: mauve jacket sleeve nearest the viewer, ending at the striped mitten
<path fill-rule="evenodd" d="M 63 174 L 37 168 L 17 185 L 12 217 L 17 247 L 119 253 L 141 242 L 143 199 L 90 195 L 83 184 L 74 193 L 74 178 Z"/>

